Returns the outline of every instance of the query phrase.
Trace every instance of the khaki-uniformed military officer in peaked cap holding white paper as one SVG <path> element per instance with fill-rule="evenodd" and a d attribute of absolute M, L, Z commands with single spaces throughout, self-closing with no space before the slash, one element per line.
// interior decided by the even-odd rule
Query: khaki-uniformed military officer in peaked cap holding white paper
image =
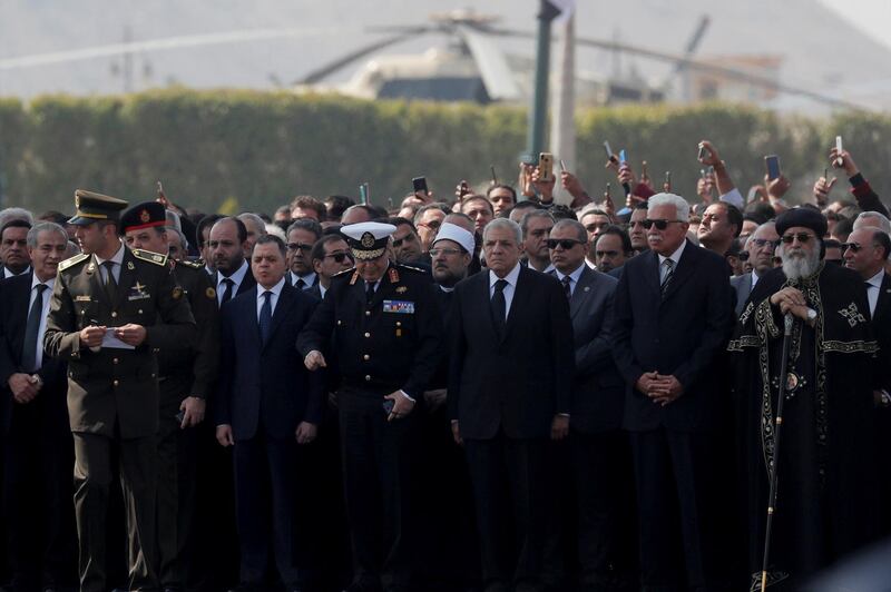
<path fill-rule="evenodd" d="M 157 589 L 154 569 L 157 352 L 195 338 L 195 320 L 164 255 L 130 250 L 127 203 L 78 190 L 69 224 L 82 254 L 59 264 L 47 353 L 68 362 L 81 592 L 105 592 L 106 511 L 117 444 L 129 540 L 129 590 Z"/>

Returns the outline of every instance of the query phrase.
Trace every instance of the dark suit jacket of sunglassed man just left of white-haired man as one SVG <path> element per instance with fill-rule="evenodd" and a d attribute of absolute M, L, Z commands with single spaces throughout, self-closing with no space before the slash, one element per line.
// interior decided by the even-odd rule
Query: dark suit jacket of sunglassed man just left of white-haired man
<path fill-rule="evenodd" d="M 617 285 L 586 265 L 569 300 L 576 347 L 570 425 L 585 433 L 621 427 L 625 381 L 613 361 L 609 334 Z"/>

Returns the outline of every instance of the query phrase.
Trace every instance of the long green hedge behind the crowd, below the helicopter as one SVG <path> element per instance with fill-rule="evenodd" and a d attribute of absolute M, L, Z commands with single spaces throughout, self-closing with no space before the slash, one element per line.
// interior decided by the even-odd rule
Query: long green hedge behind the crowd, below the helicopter
<path fill-rule="evenodd" d="M 891 193 L 883 176 L 888 116 L 812 120 L 724 105 L 631 106 L 580 112 L 577 134 L 576 172 L 594 196 L 615 185 L 603 167 L 604 140 L 627 150 L 638 172 L 647 160 L 657 184 L 670 170 L 674 190 L 694 197 L 696 145 L 709 139 L 744 194 L 763 179 L 764 155 L 777 154 L 794 182 L 791 199 L 806 199 L 836 135 L 880 195 Z M 484 186 L 490 165 L 499 180 L 515 184 L 525 136 L 525 110 L 502 106 L 241 90 L 52 96 L 0 101 L 0 181 L 3 205 L 38 211 L 70 211 L 78 187 L 150 199 L 158 179 L 174 201 L 205 211 L 227 199 L 273 211 L 298 194 L 355 197 L 363 181 L 373 203 L 388 206 L 421 175 L 443 198 L 460 179 Z"/>

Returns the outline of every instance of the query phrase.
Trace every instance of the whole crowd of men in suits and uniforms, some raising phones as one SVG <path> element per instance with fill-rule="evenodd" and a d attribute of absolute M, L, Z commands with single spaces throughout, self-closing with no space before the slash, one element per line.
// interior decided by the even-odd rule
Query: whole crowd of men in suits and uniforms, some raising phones
<path fill-rule="evenodd" d="M 391 213 L 0 211 L 7 589 L 797 590 L 891 534 L 888 210 L 848 152 L 853 200 L 793 208 L 702 146 L 695 205 L 610 159 L 619 211 L 528 165 Z"/>

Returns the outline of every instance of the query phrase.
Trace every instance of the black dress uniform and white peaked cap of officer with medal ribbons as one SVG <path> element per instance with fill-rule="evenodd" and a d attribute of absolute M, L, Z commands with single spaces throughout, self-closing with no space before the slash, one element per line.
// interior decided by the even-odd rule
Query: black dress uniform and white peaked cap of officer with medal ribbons
<path fill-rule="evenodd" d="M 363 231 L 361 240 L 351 240 L 359 260 L 380 258 L 395 229 L 376 223 L 353 226 L 380 233 Z M 342 229 L 347 236 L 350 230 Z M 409 492 L 419 414 L 388 422 L 383 397 L 399 389 L 423 397 L 439 364 L 441 330 L 430 276 L 390 263 L 375 284 L 366 285 L 356 269 L 335 276 L 297 338 L 303 356 L 324 352 L 336 358 L 341 372 L 337 403 L 353 590 L 379 590 L 382 583 L 404 590 L 411 583 L 418 537 L 417 501 Z"/>

